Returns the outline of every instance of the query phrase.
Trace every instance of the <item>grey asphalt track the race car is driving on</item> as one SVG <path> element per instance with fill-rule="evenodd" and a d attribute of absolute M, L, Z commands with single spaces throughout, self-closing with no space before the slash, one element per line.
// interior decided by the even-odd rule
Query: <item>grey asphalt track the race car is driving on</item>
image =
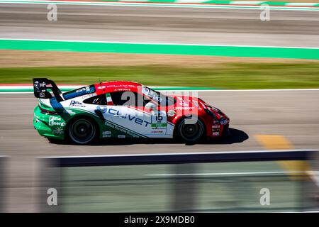
<path fill-rule="evenodd" d="M 33 128 L 33 94 L 0 94 L 0 155 L 9 155 L 6 211 L 36 211 L 35 157 L 267 150 L 255 135 L 283 135 L 295 149 L 319 148 L 319 91 L 199 92 L 230 117 L 232 135 L 216 143 L 184 145 L 173 140 L 103 141 L 96 145 L 49 143 Z"/>

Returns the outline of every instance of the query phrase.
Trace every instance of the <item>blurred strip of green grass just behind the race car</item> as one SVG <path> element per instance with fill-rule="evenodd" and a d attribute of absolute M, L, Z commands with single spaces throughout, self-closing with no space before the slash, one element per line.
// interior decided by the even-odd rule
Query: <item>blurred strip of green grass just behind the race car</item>
<path fill-rule="evenodd" d="M 319 63 L 224 63 L 201 68 L 168 65 L 0 68 L 0 83 L 31 83 L 33 77 L 66 84 L 130 80 L 153 86 L 220 89 L 318 88 Z"/>

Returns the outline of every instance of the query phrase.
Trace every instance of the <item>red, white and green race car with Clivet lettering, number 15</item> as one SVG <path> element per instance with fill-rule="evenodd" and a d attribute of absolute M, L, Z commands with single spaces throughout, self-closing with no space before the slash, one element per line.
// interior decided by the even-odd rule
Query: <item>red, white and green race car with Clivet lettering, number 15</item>
<path fill-rule="evenodd" d="M 197 143 L 228 134 L 228 116 L 202 99 L 165 95 L 137 82 L 101 82 L 62 93 L 52 80 L 35 78 L 33 88 L 39 101 L 33 126 L 50 142 L 177 138 Z"/>

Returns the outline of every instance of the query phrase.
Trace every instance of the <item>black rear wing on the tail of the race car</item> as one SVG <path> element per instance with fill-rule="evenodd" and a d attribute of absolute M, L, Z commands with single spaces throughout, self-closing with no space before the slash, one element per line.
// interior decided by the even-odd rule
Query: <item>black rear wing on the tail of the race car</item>
<path fill-rule="evenodd" d="M 48 87 L 47 85 L 51 86 Z M 36 98 L 51 99 L 52 95 L 47 91 L 47 89 L 50 89 L 53 92 L 57 101 L 63 101 L 62 92 L 55 82 L 47 78 L 33 78 L 33 90 Z"/>

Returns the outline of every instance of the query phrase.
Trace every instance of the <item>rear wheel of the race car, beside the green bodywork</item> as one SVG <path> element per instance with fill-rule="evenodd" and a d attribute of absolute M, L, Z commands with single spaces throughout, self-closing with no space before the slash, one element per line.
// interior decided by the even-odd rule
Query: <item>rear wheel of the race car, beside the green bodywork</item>
<path fill-rule="evenodd" d="M 69 123 L 67 135 L 72 143 L 86 145 L 95 140 L 97 135 L 96 123 L 90 118 L 80 117 Z"/>

